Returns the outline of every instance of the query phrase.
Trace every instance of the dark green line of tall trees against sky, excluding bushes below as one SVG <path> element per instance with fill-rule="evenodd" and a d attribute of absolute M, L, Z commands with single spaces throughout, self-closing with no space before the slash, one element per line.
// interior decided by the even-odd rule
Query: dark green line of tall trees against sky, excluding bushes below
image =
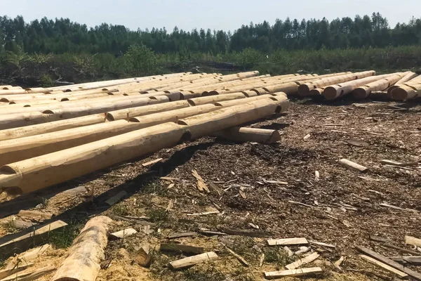
<path fill-rule="evenodd" d="M 233 33 L 223 30 L 179 30 L 165 28 L 129 30 L 123 25 L 102 24 L 88 28 L 65 18 L 42 18 L 25 22 L 22 16 L 0 17 L 0 52 L 18 53 L 110 53 L 122 55 L 135 44 L 155 53 L 241 52 L 253 48 L 262 53 L 279 49 L 385 48 L 421 44 L 421 18 L 394 28 L 380 13 L 363 17 L 326 20 L 276 20 L 243 25 Z"/>

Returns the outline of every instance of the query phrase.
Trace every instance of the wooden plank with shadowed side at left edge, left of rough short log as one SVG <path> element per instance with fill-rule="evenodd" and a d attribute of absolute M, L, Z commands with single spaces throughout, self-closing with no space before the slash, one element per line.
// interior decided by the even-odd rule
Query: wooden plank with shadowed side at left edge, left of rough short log
<path fill-rule="evenodd" d="M 39 226 L 36 230 L 32 230 L 29 233 L 25 231 L 25 234 L 17 233 L 15 235 L 8 235 L 0 238 L 0 251 L 3 254 L 10 252 L 22 252 L 27 249 L 37 246 L 44 242 L 44 238 L 50 235 L 51 231 L 59 230 L 67 226 L 64 221 L 54 221 L 44 226 Z"/>

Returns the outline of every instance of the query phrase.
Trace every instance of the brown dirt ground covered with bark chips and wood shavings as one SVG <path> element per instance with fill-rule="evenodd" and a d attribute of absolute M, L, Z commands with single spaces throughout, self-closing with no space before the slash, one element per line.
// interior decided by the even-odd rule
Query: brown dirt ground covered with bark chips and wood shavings
<path fill-rule="evenodd" d="M 399 256 L 399 250 L 370 240 L 370 236 L 387 237 L 392 244 L 408 250 L 411 247 L 405 245 L 405 235 L 421 237 L 420 166 L 399 168 L 380 163 L 382 159 L 421 160 L 421 104 L 293 100 L 285 114 L 249 126 L 279 130 L 281 141 L 265 145 L 201 138 L 47 188 L 35 196 L 0 203 L 4 217 L 0 235 L 17 231 L 11 219 L 19 209 L 36 207 L 54 214 L 53 219 L 69 223 L 69 228 L 46 240 L 53 249 L 36 261 L 36 266 L 42 267 L 60 265 L 66 255 L 60 248 L 71 244 L 90 216 L 114 218 L 110 232 L 130 227 L 137 230 L 131 237 L 109 241 L 97 280 L 264 280 L 265 271 L 283 270 L 286 264 L 312 251 L 321 257 L 304 267 L 320 266 L 323 273 L 308 280 L 394 280 L 396 275 L 361 259 L 355 246 Z M 142 166 L 157 158 L 163 159 Z M 342 158 L 368 167 L 368 172 L 341 166 L 338 160 Z M 198 189 L 193 169 L 206 181 L 210 192 Z M 173 179 L 163 180 L 163 176 Z M 222 190 L 221 194 L 210 183 Z M 76 187 L 89 191 L 61 197 L 60 192 Z M 105 204 L 122 190 L 127 192 L 123 201 L 113 207 Z M 93 196 L 86 195 L 90 192 Z M 2 200 L 7 200 L 5 195 Z M 382 203 L 403 210 L 383 207 Z M 208 211 L 219 214 L 192 216 Z M 206 236 L 200 233 L 203 228 L 228 234 L 248 230 L 260 237 Z M 167 239 L 183 232 L 198 235 Z M 307 253 L 288 256 L 283 247 L 267 246 L 267 238 L 289 237 L 306 237 L 335 248 L 311 244 Z M 135 251 L 146 242 L 151 247 L 150 268 L 133 262 Z M 203 247 L 215 251 L 220 259 L 172 271 L 168 262 L 185 255 L 159 251 L 161 242 Z M 224 245 L 243 256 L 250 266 L 243 266 Z M 298 251 L 300 247 L 290 249 Z M 262 254 L 265 258 L 260 265 Z M 345 257 L 342 270 L 333 266 L 341 256 Z M 420 267 L 410 268 L 421 272 Z"/>

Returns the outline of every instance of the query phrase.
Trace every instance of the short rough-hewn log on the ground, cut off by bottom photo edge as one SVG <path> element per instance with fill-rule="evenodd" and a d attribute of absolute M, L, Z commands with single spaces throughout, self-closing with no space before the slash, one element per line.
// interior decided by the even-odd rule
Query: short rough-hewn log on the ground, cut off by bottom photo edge
<path fill-rule="evenodd" d="M 112 219 L 107 216 L 91 218 L 76 237 L 69 256 L 53 276 L 53 281 L 95 281 L 100 273 L 100 263 L 105 259 L 108 225 Z"/>

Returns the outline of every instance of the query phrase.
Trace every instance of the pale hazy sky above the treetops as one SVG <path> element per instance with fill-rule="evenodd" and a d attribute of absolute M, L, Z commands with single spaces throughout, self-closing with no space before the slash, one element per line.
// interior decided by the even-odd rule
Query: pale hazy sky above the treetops
<path fill-rule="evenodd" d="M 125 25 L 131 30 L 175 25 L 183 30 L 210 28 L 236 30 L 249 22 L 290 17 L 328 20 L 380 12 L 394 27 L 421 17 L 421 0 L 0 0 L 0 15 L 25 21 L 47 18 L 69 18 L 88 27 L 102 22 Z"/>

